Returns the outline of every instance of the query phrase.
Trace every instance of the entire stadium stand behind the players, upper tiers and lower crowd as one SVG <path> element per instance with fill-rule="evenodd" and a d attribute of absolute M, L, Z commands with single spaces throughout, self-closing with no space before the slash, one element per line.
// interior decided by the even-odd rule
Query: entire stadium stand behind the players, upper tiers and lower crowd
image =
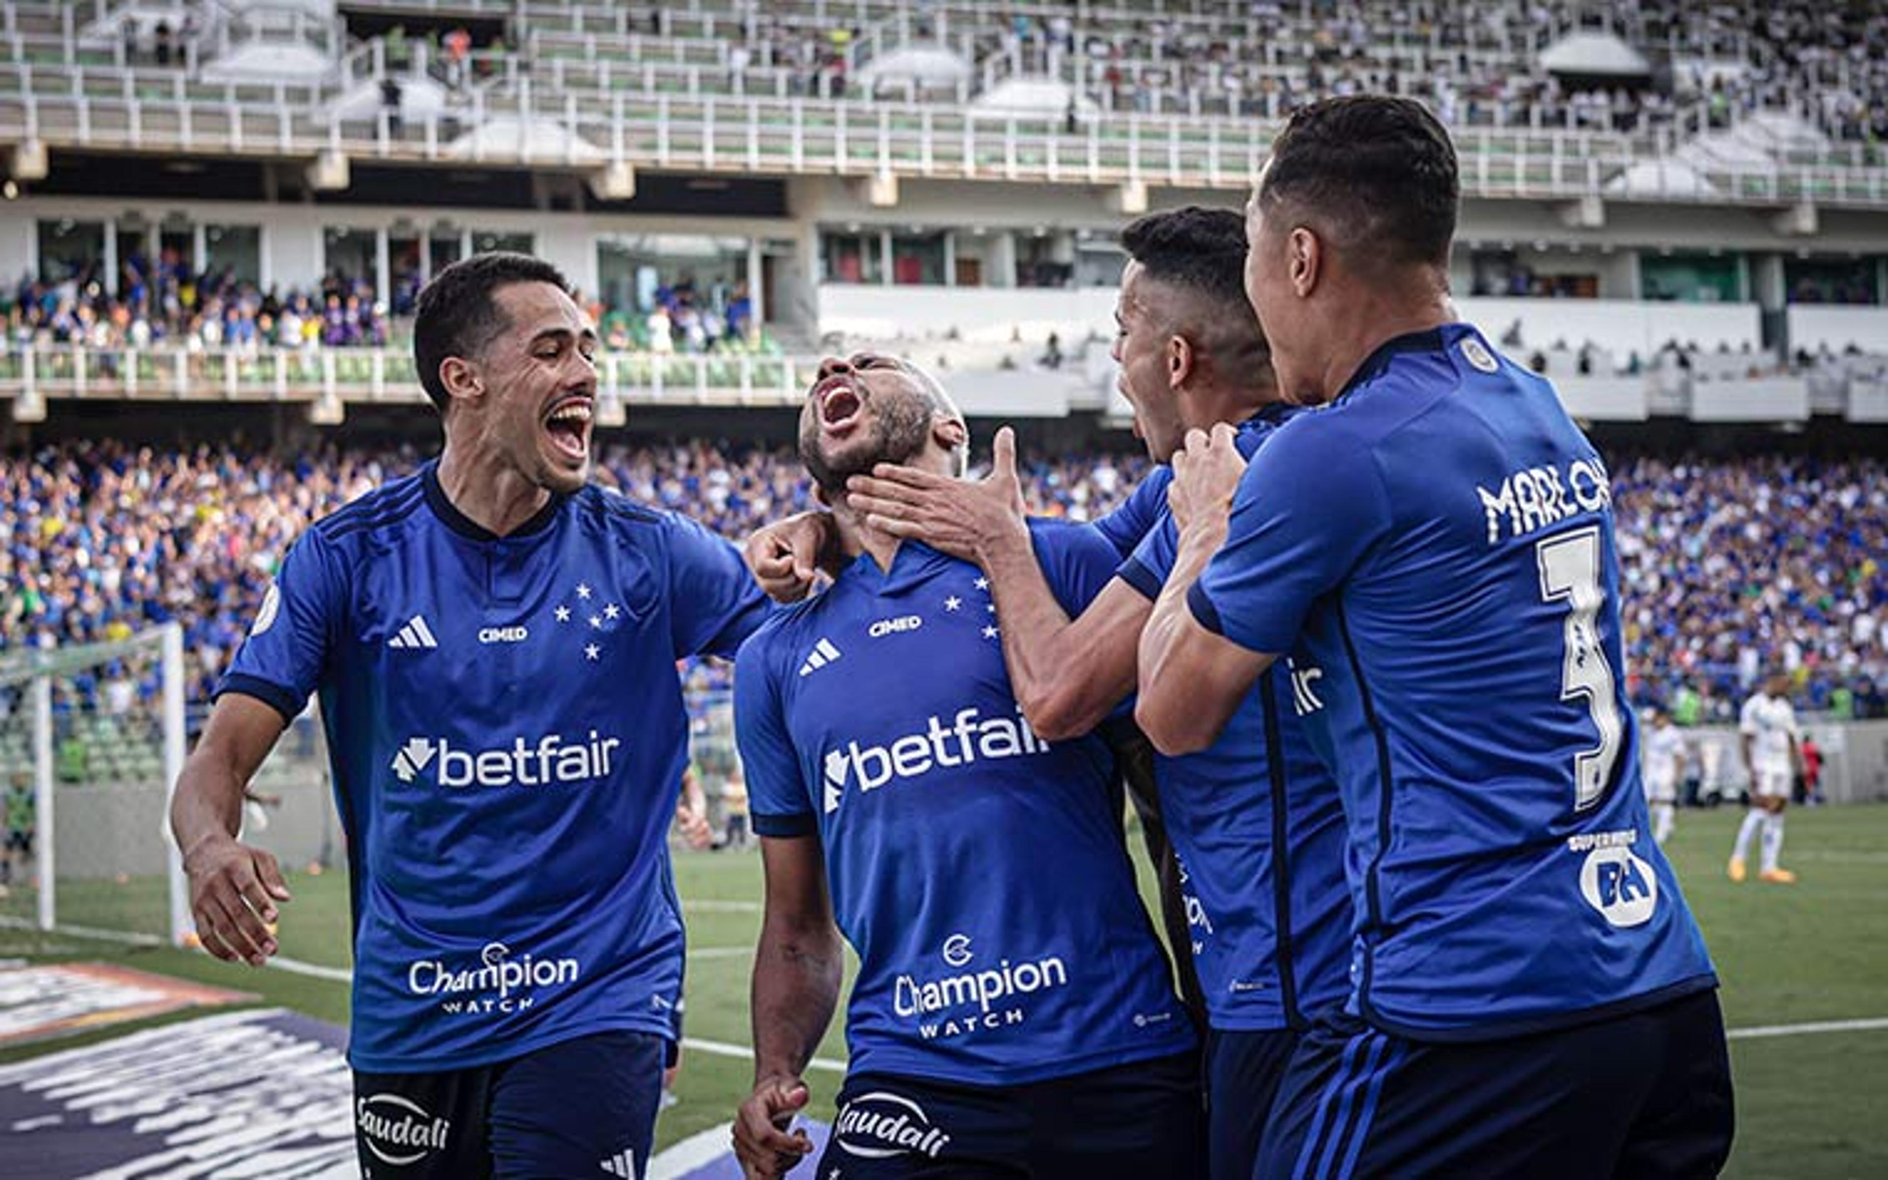
<path fill-rule="evenodd" d="M 32 425 L 77 400 L 293 404 L 317 430 L 419 406 L 412 300 L 483 249 L 572 276 L 606 429 L 717 406 L 716 436 L 759 440 L 740 408 L 880 347 L 972 415 L 1063 423 L 1080 459 L 1033 502 L 1093 515 L 1140 472 L 1097 459 L 1127 421 L 1114 230 L 1240 200 L 1295 104 L 1391 91 L 1461 151 L 1463 317 L 1618 430 L 1637 697 L 1711 716 L 1782 661 L 1805 706 L 1869 710 L 1880 461 L 1724 440 L 1854 429 L 1867 453 L 1888 421 L 1884 47 L 1877 8 L 1809 0 L 6 0 L 0 642 L 177 615 L 200 697 L 287 540 L 415 455 Z M 729 534 L 804 504 L 765 444 L 649 438 L 606 455 L 632 495 Z M 1801 555 L 1782 582 L 1773 548 Z"/>

